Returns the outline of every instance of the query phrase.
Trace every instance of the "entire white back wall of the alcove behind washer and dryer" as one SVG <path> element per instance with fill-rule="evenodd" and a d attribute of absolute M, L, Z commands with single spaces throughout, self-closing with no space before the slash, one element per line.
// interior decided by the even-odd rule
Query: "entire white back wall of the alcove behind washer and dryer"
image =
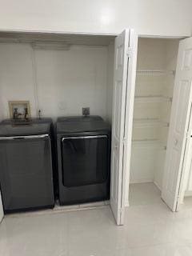
<path fill-rule="evenodd" d="M 38 110 L 30 44 L 0 44 L 0 102 L 2 118 L 9 117 L 9 100 L 29 100 L 32 116 Z M 106 118 L 107 46 L 71 46 L 70 50 L 35 50 L 38 107 L 43 117 L 90 114 Z"/>

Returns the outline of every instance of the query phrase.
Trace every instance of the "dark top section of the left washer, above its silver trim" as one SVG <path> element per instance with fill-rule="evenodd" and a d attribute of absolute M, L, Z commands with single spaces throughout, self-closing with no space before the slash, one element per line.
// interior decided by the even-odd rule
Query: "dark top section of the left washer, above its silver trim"
<path fill-rule="evenodd" d="M 26 125 L 15 125 L 6 119 L 0 123 L 0 137 L 50 134 L 51 123 L 50 118 L 34 118 Z"/>

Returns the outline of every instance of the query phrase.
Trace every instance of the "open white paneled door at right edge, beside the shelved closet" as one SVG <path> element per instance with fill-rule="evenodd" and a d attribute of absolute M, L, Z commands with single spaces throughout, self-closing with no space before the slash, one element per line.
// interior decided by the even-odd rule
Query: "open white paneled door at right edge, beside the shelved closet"
<path fill-rule="evenodd" d="M 179 44 L 178 65 L 170 116 L 162 199 L 171 210 L 178 210 L 182 167 L 189 128 L 192 82 L 192 38 Z"/>

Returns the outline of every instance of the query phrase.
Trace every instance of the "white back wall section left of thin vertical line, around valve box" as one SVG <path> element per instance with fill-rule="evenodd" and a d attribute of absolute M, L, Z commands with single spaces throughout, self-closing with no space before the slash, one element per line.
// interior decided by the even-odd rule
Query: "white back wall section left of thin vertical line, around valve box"
<path fill-rule="evenodd" d="M 8 101 L 11 100 L 29 100 L 34 116 L 36 110 L 30 46 L 1 43 L 0 56 L 2 118 L 10 116 Z"/>

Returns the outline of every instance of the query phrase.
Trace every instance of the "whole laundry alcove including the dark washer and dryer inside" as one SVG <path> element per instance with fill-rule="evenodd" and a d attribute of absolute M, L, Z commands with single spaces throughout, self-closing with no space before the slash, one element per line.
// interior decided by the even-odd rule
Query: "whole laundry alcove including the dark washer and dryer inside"
<path fill-rule="evenodd" d="M 6 214 L 110 199 L 114 38 L 0 33 Z"/>

